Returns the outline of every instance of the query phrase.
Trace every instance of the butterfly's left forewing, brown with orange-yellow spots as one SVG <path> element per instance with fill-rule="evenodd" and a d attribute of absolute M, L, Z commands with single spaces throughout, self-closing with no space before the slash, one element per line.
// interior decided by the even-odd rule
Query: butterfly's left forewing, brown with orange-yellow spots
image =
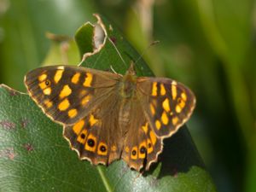
<path fill-rule="evenodd" d="M 32 99 L 51 119 L 71 125 L 111 94 L 119 75 L 84 67 L 49 66 L 26 74 Z"/>

